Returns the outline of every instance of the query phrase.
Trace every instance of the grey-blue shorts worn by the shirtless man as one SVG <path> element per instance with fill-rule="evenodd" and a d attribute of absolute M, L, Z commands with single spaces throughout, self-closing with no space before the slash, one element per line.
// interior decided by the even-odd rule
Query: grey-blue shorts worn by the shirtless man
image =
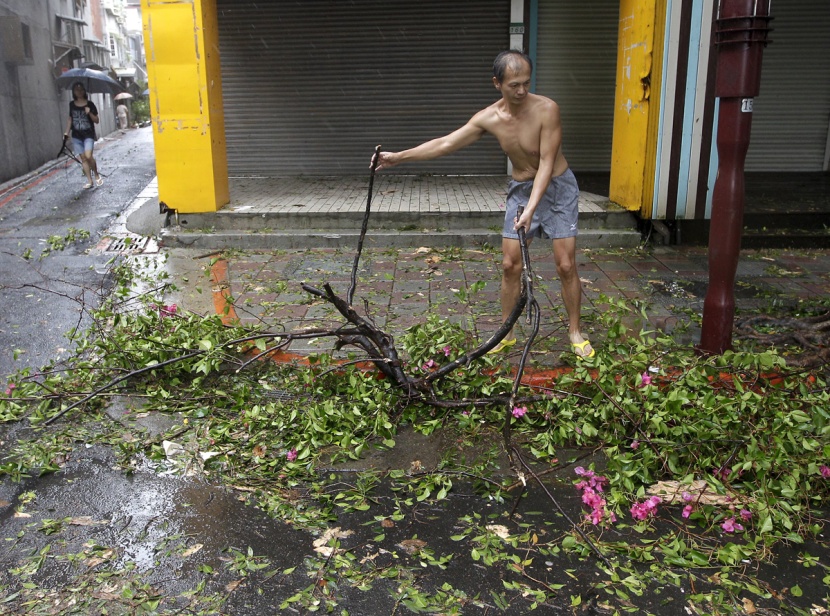
<path fill-rule="evenodd" d="M 504 213 L 504 229 L 502 237 L 519 239 L 519 234 L 513 229 L 516 224 L 516 212 L 519 206 L 527 205 L 530 192 L 533 190 L 533 180 L 517 182 L 510 180 L 507 185 L 507 211 Z M 562 239 L 576 237 L 579 220 L 579 186 L 573 172 L 568 169 L 562 175 L 551 178 L 547 191 L 542 195 L 533 220 L 530 223 L 528 238 L 541 237 L 546 239 Z"/>

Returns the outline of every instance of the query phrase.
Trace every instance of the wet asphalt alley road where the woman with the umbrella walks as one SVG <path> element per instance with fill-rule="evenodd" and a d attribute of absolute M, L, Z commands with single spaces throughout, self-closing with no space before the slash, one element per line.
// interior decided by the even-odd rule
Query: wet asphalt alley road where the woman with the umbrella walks
<path fill-rule="evenodd" d="M 87 308 L 106 285 L 105 268 L 100 266 L 108 257 L 86 251 L 98 244 L 115 217 L 155 176 L 152 140 L 147 127 L 99 141 L 95 156 L 105 176 L 100 188 L 84 190 L 81 166 L 64 156 L 65 164 L 0 194 L 4 376 L 60 357 L 67 347 L 64 333 L 88 323 Z M 55 151 L 59 147 L 60 143 Z M 64 238 L 71 229 L 88 231 L 89 239 L 39 259 L 49 249 L 49 237 Z M 27 250 L 28 260 L 23 258 Z"/>

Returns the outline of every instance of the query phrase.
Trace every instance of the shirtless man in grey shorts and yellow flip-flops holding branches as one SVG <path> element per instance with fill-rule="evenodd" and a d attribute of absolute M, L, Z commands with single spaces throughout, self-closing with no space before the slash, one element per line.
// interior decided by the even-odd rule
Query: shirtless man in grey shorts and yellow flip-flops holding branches
<path fill-rule="evenodd" d="M 402 152 L 381 152 L 377 169 L 410 161 L 446 156 L 490 133 L 513 163 L 502 231 L 502 321 L 507 320 L 521 294 L 522 255 L 518 229 L 528 243 L 535 236 L 553 239 L 562 300 L 568 313 L 568 337 L 579 357 L 593 357 L 591 343 L 580 330 L 582 288 L 576 269 L 577 199 L 579 188 L 562 154 L 559 106 L 531 94 L 533 65 L 520 51 L 500 53 L 493 62 L 493 85 L 501 99 L 475 114 L 458 130 Z M 524 213 L 517 220 L 518 207 Z M 513 332 L 491 353 L 515 344 Z"/>

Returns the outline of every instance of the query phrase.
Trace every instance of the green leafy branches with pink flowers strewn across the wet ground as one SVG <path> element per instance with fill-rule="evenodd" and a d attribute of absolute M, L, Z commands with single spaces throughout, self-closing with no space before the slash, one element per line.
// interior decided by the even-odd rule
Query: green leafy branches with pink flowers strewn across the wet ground
<path fill-rule="evenodd" d="M 522 385 L 522 403 L 505 408 L 474 403 L 503 401 L 514 386 L 510 367 L 485 355 L 434 383 L 436 396 L 452 402 L 442 407 L 329 355 L 309 365 L 251 362 L 275 334 L 182 314 L 163 297 L 135 297 L 134 275 L 120 271 L 121 286 L 91 315 L 93 326 L 72 333 L 72 358 L 8 383 L 0 420 L 27 429 L 7 444 L 3 476 L 59 470 L 81 433 L 84 442 L 114 447 L 125 472 L 146 459 L 181 472 L 195 465 L 269 515 L 320 533 L 330 549 L 310 569 L 334 571 L 341 585 L 358 589 L 391 579 L 396 609 L 461 613 L 475 602 L 449 585 L 415 592 L 400 571 L 350 555 L 331 529 L 346 514 L 394 525 L 419 504 L 440 506 L 462 483 L 513 524 L 488 524 L 475 512 L 454 524 L 458 549 L 499 569 L 503 588 L 490 593 L 497 607 L 509 605 L 505 593 L 526 609 L 578 606 L 579 596 L 560 597 L 563 585 L 545 573 L 567 556 L 595 564 L 601 580 L 591 584 L 608 613 L 642 611 L 636 596 L 672 586 L 688 589 L 698 613 L 824 609 L 818 597 L 802 599 L 798 584 L 774 589 L 752 573 L 774 563 L 782 545 L 821 542 L 830 489 L 826 384 L 774 351 L 703 357 L 659 333 L 632 331 L 623 325 L 630 306 L 605 298 L 610 308 L 598 325 L 606 336 L 594 359 L 543 385 Z M 415 375 L 440 370 L 473 345 L 462 328 L 434 316 L 400 342 L 403 369 Z M 121 396 L 142 401 L 135 412 L 167 414 L 175 425 L 124 440 L 102 419 Z M 476 455 L 451 449 L 434 468 L 373 469 L 348 487 L 324 470 L 394 449 L 404 429 L 445 431 Z M 512 452 L 518 458 L 506 469 Z M 583 465 L 588 456 L 594 463 Z M 547 492 L 542 478 L 554 472 L 560 484 L 567 477 L 575 506 Z M 572 526 L 553 533 L 544 519 L 514 519 L 529 491 L 547 492 Z M 420 566 L 447 564 L 449 555 L 410 541 Z M 806 551 L 801 557 L 827 567 Z M 325 592 L 325 576 L 317 579 L 283 607 L 336 609 L 334 579 Z"/>

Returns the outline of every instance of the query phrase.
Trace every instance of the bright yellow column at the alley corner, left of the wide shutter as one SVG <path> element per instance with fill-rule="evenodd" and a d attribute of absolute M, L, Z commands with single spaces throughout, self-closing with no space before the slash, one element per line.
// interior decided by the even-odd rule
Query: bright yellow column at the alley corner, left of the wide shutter
<path fill-rule="evenodd" d="M 159 200 L 180 213 L 230 200 L 216 0 L 141 0 Z"/>

